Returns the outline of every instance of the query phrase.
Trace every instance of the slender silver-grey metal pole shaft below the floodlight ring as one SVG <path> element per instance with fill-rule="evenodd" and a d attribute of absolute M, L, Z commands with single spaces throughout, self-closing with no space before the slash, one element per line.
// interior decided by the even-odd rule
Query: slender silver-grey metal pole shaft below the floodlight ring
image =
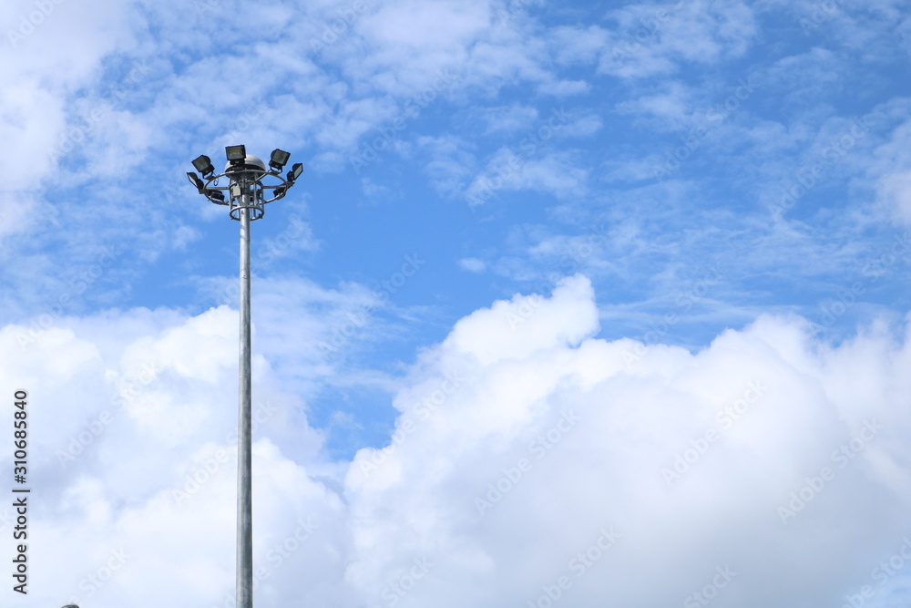
<path fill-rule="evenodd" d="M 246 199 L 246 195 L 244 199 Z M 250 209 L 241 209 L 241 404 L 237 438 L 237 608 L 253 606 Z"/>

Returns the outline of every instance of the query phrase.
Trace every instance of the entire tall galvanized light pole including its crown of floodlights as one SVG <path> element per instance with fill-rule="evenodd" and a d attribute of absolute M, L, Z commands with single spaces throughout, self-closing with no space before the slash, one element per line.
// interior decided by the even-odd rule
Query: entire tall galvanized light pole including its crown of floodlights
<path fill-rule="evenodd" d="M 297 163 L 284 177 L 281 170 L 291 154 L 272 151 L 269 169 L 262 160 L 248 155 L 244 146 L 225 148 L 228 164 L 215 175 L 208 156 L 193 160 L 189 182 L 200 194 L 217 205 L 227 205 L 232 220 L 241 222 L 241 360 L 240 406 L 237 437 L 237 608 L 253 605 L 253 500 L 251 459 L 251 356 L 250 356 L 250 222 L 265 215 L 266 203 L 278 201 L 301 177 L 303 165 Z M 228 183 L 220 185 L 221 178 Z M 269 196 L 271 191 L 271 196 Z M 227 197 L 226 197 L 227 195 Z"/>

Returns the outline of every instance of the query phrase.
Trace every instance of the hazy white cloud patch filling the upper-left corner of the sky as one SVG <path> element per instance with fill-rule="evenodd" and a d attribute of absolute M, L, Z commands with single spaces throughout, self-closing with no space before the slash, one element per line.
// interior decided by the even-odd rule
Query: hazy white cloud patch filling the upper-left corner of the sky
<path fill-rule="evenodd" d="M 56 150 L 86 134 L 69 116 L 68 96 L 93 84 L 102 58 L 127 45 L 127 12 L 122 4 L 99 10 L 32 0 L 0 8 L 0 139 L 15 150 L 5 161 L 0 236 L 43 228 L 48 210 L 36 187 L 56 168 Z"/>

